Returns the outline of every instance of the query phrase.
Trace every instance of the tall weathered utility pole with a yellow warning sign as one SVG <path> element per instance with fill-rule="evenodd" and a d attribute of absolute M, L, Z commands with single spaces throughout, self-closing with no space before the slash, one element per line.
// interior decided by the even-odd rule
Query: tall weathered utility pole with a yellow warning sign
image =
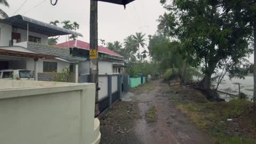
<path fill-rule="evenodd" d="M 91 0 L 90 8 L 90 83 L 95 83 L 95 111 L 99 116 L 99 82 L 98 82 L 98 1 Z"/>

